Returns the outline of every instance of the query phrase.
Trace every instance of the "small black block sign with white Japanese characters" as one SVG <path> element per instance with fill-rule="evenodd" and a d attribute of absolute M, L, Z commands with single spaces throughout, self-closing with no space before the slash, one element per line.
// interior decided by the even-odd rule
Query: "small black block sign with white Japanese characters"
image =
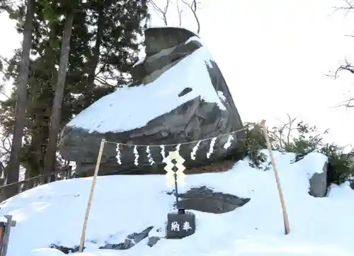
<path fill-rule="evenodd" d="M 191 212 L 168 213 L 166 238 L 185 238 L 195 233 L 195 215 Z"/>

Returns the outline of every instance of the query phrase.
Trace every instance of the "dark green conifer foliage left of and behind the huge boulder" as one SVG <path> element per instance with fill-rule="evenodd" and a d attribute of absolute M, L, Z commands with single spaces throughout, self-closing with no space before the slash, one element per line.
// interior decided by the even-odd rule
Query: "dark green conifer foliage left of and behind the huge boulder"
<path fill-rule="evenodd" d="M 33 4 L 30 33 L 26 30 L 29 4 Z M 60 128 L 94 101 L 130 82 L 129 70 L 137 61 L 149 12 L 146 0 L 6 0 L 1 1 L 0 12 L 17 21 L 18 33 L 30 35 L 28 67 L 21 66 L 25 46 L 11 58 L 0 57 L 4 84 L 14 85 L 11 95 L 0 102 L 1 140 L 11 138 L 11 142 L 16 123 L 23 122 L 23 128 L 18 126 L 23 135 L 16 135 L 17 160 L 7 165 L 13 155 L 0 158 L 8 166 L 11 183 L 18 180 L 13 174 L 18 165 L 27 170 L 27 177 L 52 172 L 60 165 L 55 157 Z M 19 101 L 21 76 L 28 82 Z M 19 102 L 24 104 L 18 106 Z M 16 118 L 16 107 L 25 111 L 24 118 Z"/>

